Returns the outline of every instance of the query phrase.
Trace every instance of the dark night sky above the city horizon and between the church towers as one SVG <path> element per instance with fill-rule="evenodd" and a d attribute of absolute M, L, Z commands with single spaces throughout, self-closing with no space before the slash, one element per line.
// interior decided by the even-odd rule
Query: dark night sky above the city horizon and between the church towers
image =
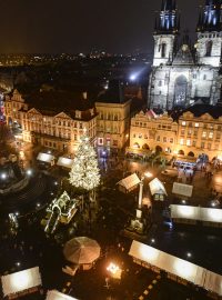
<path fill-rule="evenodd" d="M 0 0 L 0 52 L 149 52 L 161 0 Z M 178 0 L 194 31 L 204 0 Z"/>

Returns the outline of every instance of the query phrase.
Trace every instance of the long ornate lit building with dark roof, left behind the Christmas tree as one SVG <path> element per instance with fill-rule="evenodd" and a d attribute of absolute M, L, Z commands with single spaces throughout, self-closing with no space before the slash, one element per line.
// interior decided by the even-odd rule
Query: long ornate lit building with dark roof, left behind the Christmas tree
<path fill-rule="evenodd" d="M 95 144 L 97 112 L 87 93 L 44 91 L 24 100 L 14 91 L 6 98 L 6 116 L 21 126 L 26 142 L 72 153 L 85 128 Z"/>

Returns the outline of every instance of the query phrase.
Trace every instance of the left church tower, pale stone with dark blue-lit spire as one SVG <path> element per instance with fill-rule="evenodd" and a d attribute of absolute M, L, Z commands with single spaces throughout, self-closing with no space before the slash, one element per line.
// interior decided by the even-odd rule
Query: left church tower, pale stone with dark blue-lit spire
<path fill-rule="evenodd" d="M 179 32 L 175 0 L 162 0 L 159 18 L 155 19 L 154 29 L 154 58 L 153 66 L 170 64 L 173 60 L 175 38 Z"/>

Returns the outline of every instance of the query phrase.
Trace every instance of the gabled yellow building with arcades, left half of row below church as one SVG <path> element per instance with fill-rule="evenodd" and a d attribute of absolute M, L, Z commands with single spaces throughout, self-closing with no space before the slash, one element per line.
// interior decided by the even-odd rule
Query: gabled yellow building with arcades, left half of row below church
<path fill-rule="evenodd" d="M 130 148 L 172 153 L 176 144 L 178 123 L 168 113 L 158 117 L 152 110 L 131 119 Z"/>

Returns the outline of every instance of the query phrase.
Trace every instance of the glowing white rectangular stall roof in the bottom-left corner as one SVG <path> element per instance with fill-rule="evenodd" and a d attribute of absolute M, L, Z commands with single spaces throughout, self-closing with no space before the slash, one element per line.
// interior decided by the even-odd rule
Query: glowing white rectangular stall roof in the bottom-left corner
<path fill-rule="evenodd" d="M 3 294 L 21 292 L 41 286 L 39 267 L 1 277 Z"/>

